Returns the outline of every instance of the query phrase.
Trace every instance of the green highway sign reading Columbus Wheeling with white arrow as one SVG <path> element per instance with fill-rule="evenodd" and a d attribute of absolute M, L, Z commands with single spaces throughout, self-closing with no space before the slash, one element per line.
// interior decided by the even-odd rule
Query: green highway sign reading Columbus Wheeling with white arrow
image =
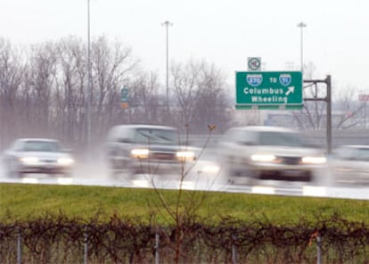
<path fill-rule="evenodd" d="M 236 109 L 302 108 L 301 71 L 236 71 Z"/>

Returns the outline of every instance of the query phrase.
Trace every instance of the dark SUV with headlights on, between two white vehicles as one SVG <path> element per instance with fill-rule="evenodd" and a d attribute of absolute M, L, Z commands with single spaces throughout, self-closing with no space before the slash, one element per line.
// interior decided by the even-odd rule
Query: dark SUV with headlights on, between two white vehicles
<path fill-rule="evenodd" d="M 109 168 L 114 174 L 175 174 L 184 161 L 193 161 L 196 154 L 194 148 L 179 144 L 176 128 L 152 125 L 113 127 L 106 148 Z"/>

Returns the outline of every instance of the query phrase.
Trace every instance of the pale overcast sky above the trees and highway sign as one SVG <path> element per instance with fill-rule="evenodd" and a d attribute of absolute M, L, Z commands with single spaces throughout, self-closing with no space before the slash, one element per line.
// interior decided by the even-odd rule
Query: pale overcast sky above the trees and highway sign
<path fill-rule="evenodd" d="M 91 0 L 91 37 L 119 38 L 146 70 L 164 76 L 169 60 L 214 62 L 230 83 L 261 57 L 264 70 L 299 68 L 303 21 L 304 62 L 315 78 L 369 94 L 368 0 Z M 0 36 L 13 44 L 87 35 L 87 0 L 0 0 Z M 161 79 L 164 83 L 164 80 Z"/>

